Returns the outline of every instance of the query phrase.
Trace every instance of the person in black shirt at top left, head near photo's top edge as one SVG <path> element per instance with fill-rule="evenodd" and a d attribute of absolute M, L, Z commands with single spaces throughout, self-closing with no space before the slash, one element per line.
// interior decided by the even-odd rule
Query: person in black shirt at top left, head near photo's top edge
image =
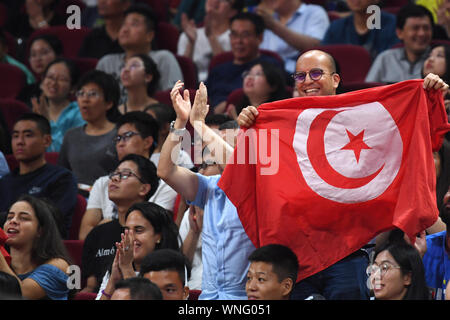
<path fill-rule="evenodd" d="M 84 38 L 79 57 L 100 59 L 107 54 L 123 52 L 117 38 L 130 4 L 130 0 L 98 1 L 97 12 L 104 24 L 93 28 Z"/>

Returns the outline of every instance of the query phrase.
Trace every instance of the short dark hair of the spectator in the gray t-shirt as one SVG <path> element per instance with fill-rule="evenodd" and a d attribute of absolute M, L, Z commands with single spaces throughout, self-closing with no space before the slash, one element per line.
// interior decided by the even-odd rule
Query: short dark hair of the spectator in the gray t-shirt
<path fill-rule="evenodd" d="M 109 121 L 116 122 L 120 116 L 120 112 L 117 109 L 120 99 L 120 87 L 117 80 L 112 75 L 101 70 L 90 70 L 78 81 L 76 89 L 80 90 L 89 83 L 99 86 L 103 91 L 105 101 L 112 102 L 112 107 L 107 111 L 106 116 Z"/>

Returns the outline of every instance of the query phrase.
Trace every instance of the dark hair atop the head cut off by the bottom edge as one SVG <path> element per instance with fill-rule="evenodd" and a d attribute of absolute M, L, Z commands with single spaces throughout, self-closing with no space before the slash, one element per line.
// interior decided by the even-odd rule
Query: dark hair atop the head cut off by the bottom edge
<path fill-rule="evenodd" d="M 119 280 L 115 290 L 129 289 L 131 300 L 162 300 L 161 290 L 147 278 L 133 277 Z"/>

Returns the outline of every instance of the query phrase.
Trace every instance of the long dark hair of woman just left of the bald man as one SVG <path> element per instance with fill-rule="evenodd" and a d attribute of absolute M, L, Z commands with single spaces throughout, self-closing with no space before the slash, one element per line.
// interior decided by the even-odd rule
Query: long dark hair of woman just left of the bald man
<path fill-rule="evenodd" d="M 273 91 L 270 93 L 269 98 L 265 102 L 290 98 L 290 95 L 286 90 L 286 77 L 283 74 L 283 71 L 277 66 L 266 61 L 255 63 L 252 68 L 258 64 L 261 66 L 267 83 L 271 88 L 273 88 Z M 249 105 L 250 99 L 246 94 L 244 94 L 241 103 L 236 106 L 236 113 L 239 114 L 243 108 Z"/>

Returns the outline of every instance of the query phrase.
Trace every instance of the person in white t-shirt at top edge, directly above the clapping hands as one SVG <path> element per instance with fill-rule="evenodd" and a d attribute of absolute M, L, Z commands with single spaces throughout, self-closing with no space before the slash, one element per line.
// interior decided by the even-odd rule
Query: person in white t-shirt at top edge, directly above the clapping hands
<path fill-rule="evenodd" d="M 197 67 L 199 81 L 206 81 L 211 58 L 230 51 L 230 19 L 242 10 L 243 0 L 205 2 L 204 25 L 197 27 L 194 19 L 181 14 L 183 33 L 178 39 L 177 53 L 192 59 Z"/>

